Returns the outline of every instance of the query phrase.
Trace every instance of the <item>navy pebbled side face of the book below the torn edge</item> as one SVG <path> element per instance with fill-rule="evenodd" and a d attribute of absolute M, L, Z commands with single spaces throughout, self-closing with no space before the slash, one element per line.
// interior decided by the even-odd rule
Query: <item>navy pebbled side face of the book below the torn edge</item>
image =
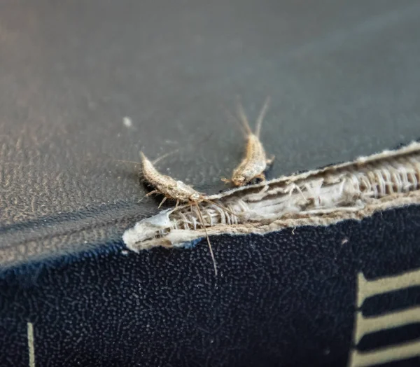
<path fill-rule="evenodd" d="M 205 241 L 140 255 L 109 247 L 10 271 L 0 282 L 0 365 L 27 366 L 31 321 L 37 366 L 346 366 L 356 275 L 419 269 L 419 216 L 412 206 L 294 234 L 212 237 L 217 279 Z M 416 305 L 420 286 L 362 308 Z M 419 338 L 410 327 L 367 335 L 360 348 Z"/>

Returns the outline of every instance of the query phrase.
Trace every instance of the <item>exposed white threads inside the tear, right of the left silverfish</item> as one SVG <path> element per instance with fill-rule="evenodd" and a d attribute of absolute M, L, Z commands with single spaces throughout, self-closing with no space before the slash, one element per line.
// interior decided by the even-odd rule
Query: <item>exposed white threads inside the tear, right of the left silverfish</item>
<path fill-rule="evenodd" d="M 358 167 L 357 170 L 340 172 L 338 177 L 329 176 L 328 180 L 320 178 L 304 180 L 302 183 L 290 182 L 281 190 L 279 188 L 270 190 L 269 185 L 265 185 L 257 194 L 251 193 L 249 200 L 244 195 L 235 202 L 235 205 L 225 204 L 225 207 L 229 212 L 239 216 L 253 212 L 262 217 L 278 217 L 279 212 L 280 215 L 281 212 L 284 214 L 287 212 L 314 214 L 319 213 L 319 210 L 331 212 L 343 209 L 340 205 L 346 205 L 345 208 L 348 210 L 351 201 L 353 201 L 353 207 L 360 209 L 360 205 L 356 205 L 358 198 L 378 199 L 393 193 L 419 188 L 417 175 L 420 175 L 420 165 L 418 160 L 412 157 L 384 162 L 381 165 L 367 164 L 365 167 Z M 326 183 L 327 181 L 328 183 Z M 265 197 L 273 194 L 279 196 L 273 197 L 271 200 L 267 199 L 266 203 Z M 257 195 L 259 200 L 255 201 Z M 206 226 L 239 223 L 237 216 L 228 211 L 211 204 L 203 205 L 202 214 L 206 219 L 207 216 L 210 218 L 206 220 Z M 213 218 L 214 212 L 218 215 Z M 181 212 L 177 214 L 181 214 Z M 193 228 L 196 227 L 196 225 L 193 226 Z"/>

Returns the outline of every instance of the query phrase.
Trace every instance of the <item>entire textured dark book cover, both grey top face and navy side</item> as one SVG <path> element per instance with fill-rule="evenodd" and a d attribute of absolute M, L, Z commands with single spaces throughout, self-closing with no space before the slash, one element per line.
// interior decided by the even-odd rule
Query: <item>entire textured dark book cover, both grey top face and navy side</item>
<path fill-rule="evenodd" d="M 120 254 L 158 209 L 113 159 L 181 148 L 162 172 L 222 190 L 243 150 L 236 95 L 251 121 L 272 97 L 272 177 L 417 138 L 419 15 L 415 0 L 1 1 L 1 365 L 27 366 L 27 321 L 40 366 L 344 363 L 356 271 L 419 267 L 418 209 L 212 238 L 216 281 L 204 242 Z"/>

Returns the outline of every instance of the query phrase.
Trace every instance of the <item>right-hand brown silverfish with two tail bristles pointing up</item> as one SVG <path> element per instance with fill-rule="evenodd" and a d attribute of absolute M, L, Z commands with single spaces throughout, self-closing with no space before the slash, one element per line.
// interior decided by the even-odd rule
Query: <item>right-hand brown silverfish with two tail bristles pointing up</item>
<path fill-rule="evenodd" d="M 234 186 L 244 186 L 246 183 L 253 181 L 253 179 L 265 181 L 265 169 L 267 169 L 267 165 L 271 165 L 274 161 L 274 155 L 272 158 L 267 159 L 264 147 L 260 141 L 261 124 L 267 112 L 268 105 L 269 98 L 265 100 L 265 104 L 262 106 L 254 133 L 251 127 L 249 127 L 244 107 L 238 102 L 239 118 L 246 130 L 246 153 L 239 166 L 233 170 L 232 179 L 222 179 L 222 181 L 232 182 Z"/>

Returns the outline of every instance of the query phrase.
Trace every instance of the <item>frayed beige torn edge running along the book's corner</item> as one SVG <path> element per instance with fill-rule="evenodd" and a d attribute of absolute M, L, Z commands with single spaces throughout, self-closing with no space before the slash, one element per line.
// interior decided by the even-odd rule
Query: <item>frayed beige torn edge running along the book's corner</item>
<path fill-rule="evenodd" d="M 328 226 L 420 203 L 420 143 L 209 196 L 200 203 L 209 235 L 246 235 Z M 232 214 L 234 213 L 234 214 Z M 123 234 L 128 249 L 191 247 L 205 236 L 197 208 L 182 205 Z"/>

